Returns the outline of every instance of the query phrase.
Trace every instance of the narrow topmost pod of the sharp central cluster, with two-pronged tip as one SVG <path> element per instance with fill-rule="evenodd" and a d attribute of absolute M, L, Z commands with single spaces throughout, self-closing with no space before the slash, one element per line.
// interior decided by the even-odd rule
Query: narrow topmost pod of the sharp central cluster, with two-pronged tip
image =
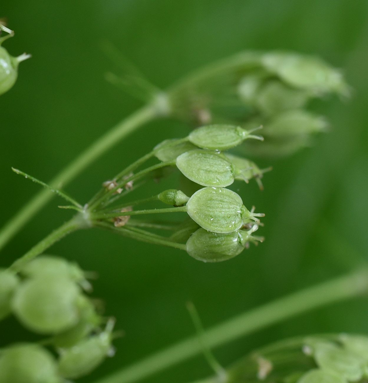
<path fill-rule="evenodd" d="M 189 141 L 203 149 L 226 150 L 241 144 L 247 138 L 263 140 L 260 136 L 254 136 L 240 126 L 234 125 L 205 125 L 193 130 Z"/>

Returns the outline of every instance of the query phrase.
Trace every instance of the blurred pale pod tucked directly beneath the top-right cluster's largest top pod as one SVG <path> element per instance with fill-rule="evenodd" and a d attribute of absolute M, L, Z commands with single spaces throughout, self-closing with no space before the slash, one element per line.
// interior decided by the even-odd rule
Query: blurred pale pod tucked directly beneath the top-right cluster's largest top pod
<path fill-rule="evenodd" d="M 265 115 L 302 108 L 311 98 L 311 92 L 293 89 L 280 81 L 267 82 L 258 92 L 255 105 Z"/>

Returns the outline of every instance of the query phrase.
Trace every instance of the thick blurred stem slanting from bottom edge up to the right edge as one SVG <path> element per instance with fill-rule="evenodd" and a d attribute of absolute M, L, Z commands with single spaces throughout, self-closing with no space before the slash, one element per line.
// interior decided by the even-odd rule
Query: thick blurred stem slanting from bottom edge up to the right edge
<path fill-rule="evenodd" d="M 289 319 L 295 315 L 316 309 L 325 304 L 366 293 L 368 269 L 335 278 L 316 286 L 305 288 L 231 318 L 204 331 L 203 339 L 208 347 L 218 347 L 231 340 L 260 330 L 266 326 Z M 141 361 L 123 368 L 94 383 L 133 383 L 167 367 L 183 362 L 202 352 L 197 337 L 190 337 L 167 349 L 156 352 Z M 210 380 L 209 380 L 210 381 Z"/>

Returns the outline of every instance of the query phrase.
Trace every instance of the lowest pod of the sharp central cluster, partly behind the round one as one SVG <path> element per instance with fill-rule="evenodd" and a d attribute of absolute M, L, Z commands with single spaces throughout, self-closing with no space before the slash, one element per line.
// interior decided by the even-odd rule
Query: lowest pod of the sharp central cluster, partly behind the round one
<path fill-rule="evenodd" d="M 203 262 L 225 261 L 243 250 L 243 238 L 239 230 L 221 234 L 200 228 L 186 241 L 186 252 Z"/>

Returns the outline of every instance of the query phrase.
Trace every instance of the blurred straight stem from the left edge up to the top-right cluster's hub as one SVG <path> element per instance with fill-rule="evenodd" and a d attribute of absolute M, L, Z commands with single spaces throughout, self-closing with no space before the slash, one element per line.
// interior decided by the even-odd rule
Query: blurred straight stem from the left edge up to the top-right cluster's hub
<path fill-rule="evenodd" d="M 133 113 L 128 118 L 114 126 L 110 131 L 97 139 L 94 144 L 85 149 L 74 161 L 62 170 L 49 185 L 60 188 L 70 182 L 82 170 L 96 160 L 100 155 L 117 144 L 123 137 L 154 119 L 158 114 L 157 106 L 147 105 Z M 42 190 L 37 193 L 20 211 L 18 211 L 0 231 L 0 249 L 52 198 L 52 193 Z"/>

